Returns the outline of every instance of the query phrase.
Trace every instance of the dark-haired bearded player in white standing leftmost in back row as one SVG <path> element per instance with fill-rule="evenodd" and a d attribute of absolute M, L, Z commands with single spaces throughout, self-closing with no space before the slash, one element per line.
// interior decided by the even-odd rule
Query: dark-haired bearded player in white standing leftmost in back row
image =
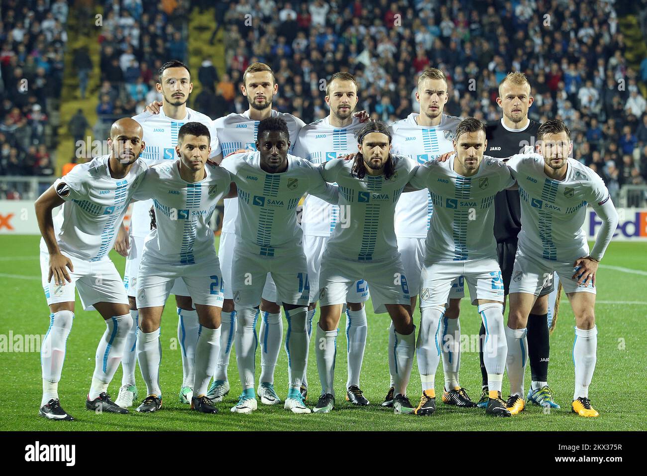
<path fill-rule="evenodd" d="M 193 83 L 191 72 L 184 63 L 170 61 L 160 67 L 157 78 L 157 91 L 162 94 L 161 109 L 159 114 L 144 112 L 133 119 L 137 120 L 144 129 L 146 149 L 142 151 L 142 159 L 146 164 L 153 166 L 160 163 L 169 163 L 175 158 L 175 146 L 180 128 L 187 122 L 200 122 L 212 129 L 211 119 L 186 106 Z M 222 155 L 215 131 L 210 131 L 211 155 L 218 161 Z M 135 367 L 137 365 L 136 343 L 137 323 L 139 312 L 137 309 L 137 275 L 140 268 L 144 240 L 150 231 L 149 209 L 153 205 L 150 199 L 138 201 L 133 205 L 131 226 L 129 234 L 123 227 L 120 229 L 115 249 L 126 255 L 126 270 L 124 272 L 124 285 L 128 293 L 130 314 L 135 322 L 126 343 L 126 351 L 122 359 L 122 386 L 115 403 L 122 407 L 131 407 L 137 400 L 137 387 L 135 386 Z M 181 279 L 175 281 L 171 294 L 175 295 L 177 304 L 177 339 L 181 346 L 182 356 L 182 385 L 179 392 L 181 403 L 191 403 L 193 396 L 194 367 L 193 359 L 198 341 L 200 323 L 197 311 L 193 308 L 189 291 Z"/>

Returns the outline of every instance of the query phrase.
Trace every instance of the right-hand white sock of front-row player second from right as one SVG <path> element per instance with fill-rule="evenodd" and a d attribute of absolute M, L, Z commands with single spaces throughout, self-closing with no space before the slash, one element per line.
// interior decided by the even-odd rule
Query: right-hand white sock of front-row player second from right
<path fill-rule="evenodd" d="M 478 311 L 485 325 L 483 363 L 488 375 L 488 390 L 500 392 L 508 349 L 503 326 L 503 304 L 479 304 Z"/>

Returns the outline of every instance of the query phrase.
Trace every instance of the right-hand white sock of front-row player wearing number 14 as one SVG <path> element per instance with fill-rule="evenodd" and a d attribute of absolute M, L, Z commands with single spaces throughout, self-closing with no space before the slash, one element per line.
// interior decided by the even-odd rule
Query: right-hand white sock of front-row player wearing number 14
<path fill-rule="evenodd" d="M 287 353 L 288 380 L 292 388 L 300 389 L 308 361 L 308 308 L 285 310 L 285 319 L 287 320 L 285 352 Z"/>

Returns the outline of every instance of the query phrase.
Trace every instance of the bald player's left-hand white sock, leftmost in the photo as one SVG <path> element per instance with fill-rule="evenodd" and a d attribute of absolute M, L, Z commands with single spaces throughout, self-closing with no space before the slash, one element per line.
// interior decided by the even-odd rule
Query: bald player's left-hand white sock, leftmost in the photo
<path fill-rule="evenodd" d="M 43 371 L 43 399 L 45 403 L 58 398 L 58 381 L 65 360 L 65 342 L 72 330 L 74 313 L 59 311 L 49 315 L 49 329 L 41 345 L 41 368 Z"/>

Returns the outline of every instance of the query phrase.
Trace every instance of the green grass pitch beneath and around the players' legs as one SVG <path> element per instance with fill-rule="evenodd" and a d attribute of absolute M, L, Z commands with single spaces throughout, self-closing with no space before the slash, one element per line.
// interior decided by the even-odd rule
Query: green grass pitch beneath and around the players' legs
<path fill-rule="evenodd" d="M 49 324 L 49 310 L 40 282 L 36 236 L 0 237 L 0 289 L 3 290 L 5 310 L 0 313 L 0 334 L 6 339 L 10 332 L 16 335 L 45 334 Z M 124 258 L 112 253 L 120 271 Z M 374 315 L 371 304 L 367 306 L 368 341 L 362 389 L 371 405 L 356 408 L 344 400 L 346 379 L 345 318 L 340 321 L 337 341 L 335 388 L 338 396 L 336 409 L 330 414 L 294 415 L 283 405 L 267 407 L 259 403 L 258 411 L 250 415 L 230 413 L 229 409 L 240 392 L 236 357 L 232 352 L 229 380 L 232 391 L 219 403 L 217 415 L 196 414 L 177 400 L 182 380 L 179 345 L 177 345 L 177 314 L 173 297 L 162 318 L 162 368 L 160 381 L 164 391 L 164 407 L 159 413 L 127 415 L 94 414 L 85 410 L 85 395 L 94 370 L 94 351 L 104 332 L 105 324 L 96 312 L 84 312 L 77 299 L 74 326 L 67 341 L 65 366 L 59 384 L 63 407 L 75 422 L 51 422 L 38 416 L 41 398 L 41 368 L 38 352 L 6 352 L 16 350 L 10 346 L 0 353 L 0 427 L 6 430 L 559 430 L 559 431 L 626 431 L 647 429 L 647 411 L 641 404 L 647 389 L 647 352 L 645 317 L 647 316 L 647 244 L 614 242 L 598 271 L 598 325 L 597 367 L 591 385 L 590 398 L 600 412 L 599 418 L 580 418 L 570 412 L 573 396 L 573 313 L 567 302 L 562 302 L 556 331 L 551 337 L 551 365 L 549 383 L 554 398 L 562 409 L 544 414 L 540 407 L 529 406 L 513 418 L 490 418 L 481 409 L 456 409 L 437 398 L 437 412 L 428 418 L 394 415 L 380 406 L 388 390 L 388 315 Z M 609 266 L 609 267 L 606 267 Z M 637 273 L 630 273 L 637 270 Z M 315 322 L 318 315 L 315 317 Z M 419 321 L 419 310 L 414 320 Z M 478 333 L 480 325 L 476 309 L 468 299 L 462 302 L 461 330 L 463 334 Z M 284 324 L 284 328 L 287 326 Z M 0 337 L 2 338 L 2 337 Z M 14 337 L 15 339 L 15 337 Z M 14 341 L 15 342 L 15 341 Z M 257 379 L 260 356 L 257 352 Z M 109 391 L 116 398 L 121 381 L 121 368 L 117 371 Z M 526 389 L 530 385 L 530 372 L 526 372 Z M 308 364 L 310 397 L 314 405 L 318 396 L 319 380 L 311 343 Z M 461 385 L 468 389 L 472 399 L 480 394 L 481 375 L 478 354 L 473 350 L 463 352 L 461 358 Z M 437 387 L 442 387 L 442 363 L 436 377 Z M 287 356 L 281 351 L 276 370 L 276 389 L 282 398 L 287 393 Z M 137 369 L 137 387 L 146 392 L 140 371 Z M 509 389 L 507 378 L 504 393 Z M 420 395 L 419 375 L 414 364 L 408 387 L 411 402 L 417 403 Z M 505 393 L 507 396 L 507 393 Z"/>

